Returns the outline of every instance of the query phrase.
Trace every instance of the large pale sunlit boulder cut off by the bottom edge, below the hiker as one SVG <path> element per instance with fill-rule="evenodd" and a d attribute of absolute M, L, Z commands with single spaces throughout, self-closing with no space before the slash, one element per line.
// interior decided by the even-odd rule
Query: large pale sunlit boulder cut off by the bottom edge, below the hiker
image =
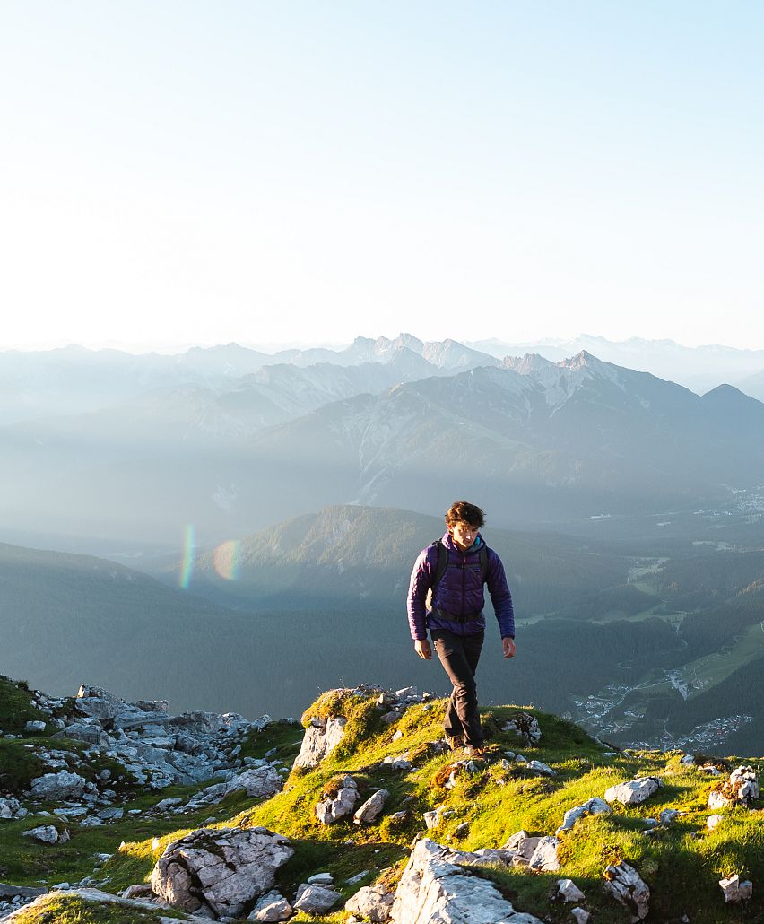
<path fill-rule="evenodd" d="M 457 856 L 429 838 L 418 841 L 395 891 L 395 924 L 541 924 L 516 912 L 492 882 L 453 862 Z"/>

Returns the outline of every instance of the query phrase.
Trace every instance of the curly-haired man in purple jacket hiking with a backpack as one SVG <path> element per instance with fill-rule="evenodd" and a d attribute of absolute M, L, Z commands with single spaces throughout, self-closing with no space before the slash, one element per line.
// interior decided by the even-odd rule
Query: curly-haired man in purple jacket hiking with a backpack
<path fill-rule="evenodd" d="M 443 539 L 419 553 L 408 588 L 408 626 L 420 658 L 432 657 L 427 629 L 443 669 L 454 686 L 443 719 L 453 750 L 465 748 L 482 757 L 483 733 L 478 713 L 475 671 L 485 634 L 483 586 L 502 633 L 504 658 L 515 657 L 515 614 L 499 556 L 483 541 L 483 511 L 456 501 L 445 515 Z"/>

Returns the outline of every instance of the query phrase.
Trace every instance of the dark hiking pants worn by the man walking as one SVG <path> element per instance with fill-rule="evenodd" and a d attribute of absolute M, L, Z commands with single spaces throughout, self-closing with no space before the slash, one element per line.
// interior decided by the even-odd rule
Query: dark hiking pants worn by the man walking
<path fill-rule="evenodd" d="M 483 633 L 457 636 L 448 629 L 431 629 L 432 642 L 448 679 L 454 685 L 443 719 L 443 729 L 449 738 L 464 738 L 466 745 L 479 748 L 483 743 L 478 714 L 478 669 Z"/>

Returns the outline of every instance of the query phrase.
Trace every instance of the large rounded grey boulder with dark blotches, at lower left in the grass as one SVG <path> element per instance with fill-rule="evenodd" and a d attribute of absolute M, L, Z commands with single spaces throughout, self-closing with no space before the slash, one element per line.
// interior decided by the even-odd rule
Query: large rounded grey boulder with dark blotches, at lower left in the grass
<path fill-rule="evenodd" d="M 167 845 L 152 871 L 152 890 L 184 911 L 236 918 L 273 888 L 276 870 L 294 852 L 267 828 L 201 828 Z"/>

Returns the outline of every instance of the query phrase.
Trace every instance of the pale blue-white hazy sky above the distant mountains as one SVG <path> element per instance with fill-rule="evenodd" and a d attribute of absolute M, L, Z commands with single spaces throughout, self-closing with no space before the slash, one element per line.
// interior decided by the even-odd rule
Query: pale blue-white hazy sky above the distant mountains
<path fill-rule="evenodd" d="M 0 0 L 0 347 L 764 347 L 764 5 Z"/>

